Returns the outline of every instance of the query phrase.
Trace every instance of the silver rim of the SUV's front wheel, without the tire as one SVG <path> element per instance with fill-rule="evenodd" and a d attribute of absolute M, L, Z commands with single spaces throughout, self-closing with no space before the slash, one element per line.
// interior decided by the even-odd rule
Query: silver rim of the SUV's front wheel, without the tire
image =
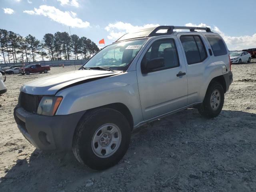
<path fill-rule="evenodd" d="M 112 156 L 122 141 L 120 128 L 112 123 L 100 126 L 92 137 L 92 151 L 100 158 Z"/>

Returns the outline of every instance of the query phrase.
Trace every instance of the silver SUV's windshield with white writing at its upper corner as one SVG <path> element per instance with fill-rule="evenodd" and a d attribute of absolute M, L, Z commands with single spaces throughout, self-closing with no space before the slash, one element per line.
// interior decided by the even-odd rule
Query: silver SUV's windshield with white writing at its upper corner
<path fill-rule="evenodd" d="M 127 70 L 146 39 L 115 43 L 100 50 L 83 67 L 108 67 L 111 70 Z"/>

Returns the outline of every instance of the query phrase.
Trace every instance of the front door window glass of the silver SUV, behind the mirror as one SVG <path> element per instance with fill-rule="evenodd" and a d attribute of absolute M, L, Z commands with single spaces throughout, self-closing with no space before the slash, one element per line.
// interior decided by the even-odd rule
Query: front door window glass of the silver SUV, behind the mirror
<path fill-rule="evenodd" d="M 164 67 L 160 68 L 160 70 L 179 66 L 178 53 L 173 39 L 155 41 L 146 52 L 143 60 L 144 62 L 148 62 L 151 59 L 159 57 L 164 58 Z"/>

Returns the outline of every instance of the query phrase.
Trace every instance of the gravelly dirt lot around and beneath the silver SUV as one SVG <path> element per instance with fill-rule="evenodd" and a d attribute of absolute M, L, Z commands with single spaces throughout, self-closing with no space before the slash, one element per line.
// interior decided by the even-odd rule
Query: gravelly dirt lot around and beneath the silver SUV
<path fill-rule="evenodd" d="M 24 82 L 48 74 L 9 75 L 0 97 L 0 191 L 256 191 L 256 59 L 234 64 L 234 82 L 221 114 L 204 119 L 188 109 L 144 126 L 132 135 L 121 162 L 97 172 L 72 152 L 36 150 L 13 118 Z"/>

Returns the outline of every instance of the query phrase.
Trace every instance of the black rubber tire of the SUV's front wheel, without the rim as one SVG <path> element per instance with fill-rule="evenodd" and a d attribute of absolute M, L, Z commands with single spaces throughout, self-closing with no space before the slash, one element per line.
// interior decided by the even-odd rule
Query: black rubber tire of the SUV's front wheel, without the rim
<path fill-rule="evenodd" d="M 121 140 L 119 147 L 111 156 L 101 158 L 95 154 L 92 140 L 95 134 L 98 134 L 98 128 L 109 123 L 118 126 Z M 74 133 L 72 150 L 81 164 L 86 164 L 94 170 L 104 170 L 117 164 L 126 154 L 130 144 L 130 134 L 130 125 L 122 113 L 110 108 L 98 108 L 81 118 Z"/>

